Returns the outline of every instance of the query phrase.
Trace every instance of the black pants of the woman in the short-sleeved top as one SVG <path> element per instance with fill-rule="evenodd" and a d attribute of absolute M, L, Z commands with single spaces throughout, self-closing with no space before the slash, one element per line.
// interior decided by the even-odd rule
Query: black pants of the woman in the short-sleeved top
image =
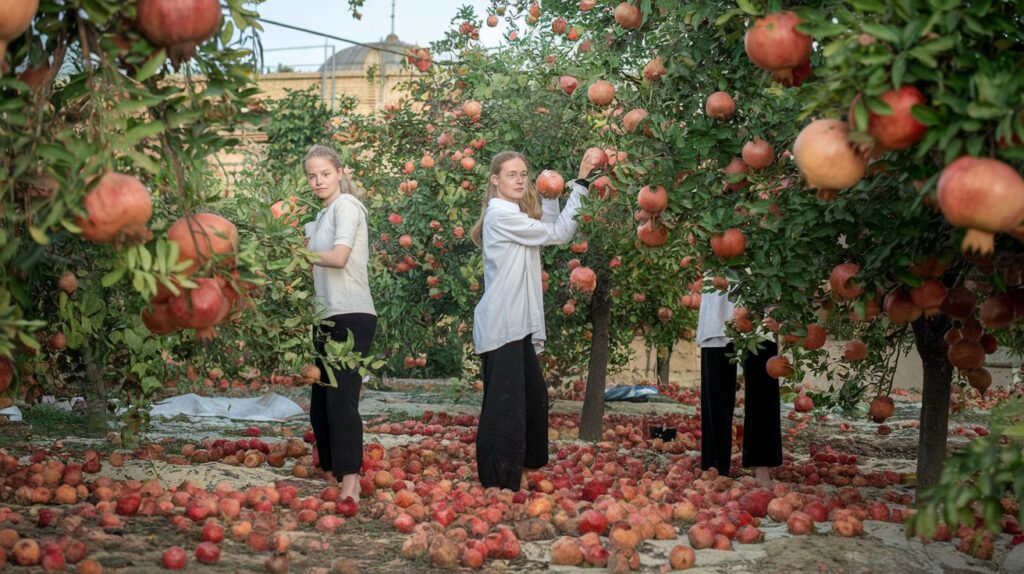
<path fill-rule="evenodd" d="M 332 324 L 333 323 L 333 324 Z M 355 351 L 366 355 L 377 330 L 377 317 L 368 313 L 334 315 L 313 326 L 313 347 L 324 354 L 327 338 L 345 341 L 351 329 Z M 321 382 L 330 384 L 327 365 L 316 358 Z M 359 390 L 362 378 L 358 371 L 334 369 L 338 388 L 313 385 L 309 399 L 309 423 L 316 438 L 319 467 L 339 480 L 359 472 L 362 467 L 362 420 L 359 417 Z"/>

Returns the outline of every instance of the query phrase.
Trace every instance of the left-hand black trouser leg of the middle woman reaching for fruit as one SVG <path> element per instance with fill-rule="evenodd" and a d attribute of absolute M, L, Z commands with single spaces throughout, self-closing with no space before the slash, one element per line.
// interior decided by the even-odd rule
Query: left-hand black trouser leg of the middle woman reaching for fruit
<path fill-rule="evenodd" d="M 476 472 L 484 487 L 519 490 L 522 480 L 526 455 L 523 351 L 522 341 L 513 341 L 480 355 L 483 405 L 476 431 Z"/>

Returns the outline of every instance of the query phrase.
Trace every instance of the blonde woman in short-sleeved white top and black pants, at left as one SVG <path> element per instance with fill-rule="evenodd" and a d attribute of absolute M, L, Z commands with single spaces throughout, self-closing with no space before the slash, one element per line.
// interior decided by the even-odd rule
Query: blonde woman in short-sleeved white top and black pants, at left
<path fill-rule="evenodd" d="M 367 208 L 360 190 L 345 174 L 337 151 L 324 145 L 309 148 L 302 166 L 306 183 L 323 209 L 306 224 L 307 249 L 313 253 L 313 288 L 322 322 L 313 325 L 313 347 L 321 383 L 312 386 L 309 422 L 316 439 L 319 467 L 341 483 L 341 499 L 359 499 L 362 467 L 362 420 L 355 370 L 333 369 L 337 388 L 329 386 L 328 367 L 319 359 L 328 338 L 355 339 L 354 350 L 370 352 L 377 330 L 377 311 L 370 295 Z"/>

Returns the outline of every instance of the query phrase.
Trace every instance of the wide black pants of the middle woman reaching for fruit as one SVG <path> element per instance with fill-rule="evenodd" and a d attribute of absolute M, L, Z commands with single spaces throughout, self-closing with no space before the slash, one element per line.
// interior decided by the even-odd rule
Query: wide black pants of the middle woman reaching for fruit
<path fill-rule="evenodd" d="M 476 431 L 480 483 L 519 490 L 523 467 L 548 463 L 548 387 L 529 337 L 480 355 L 483 406 Z"/>

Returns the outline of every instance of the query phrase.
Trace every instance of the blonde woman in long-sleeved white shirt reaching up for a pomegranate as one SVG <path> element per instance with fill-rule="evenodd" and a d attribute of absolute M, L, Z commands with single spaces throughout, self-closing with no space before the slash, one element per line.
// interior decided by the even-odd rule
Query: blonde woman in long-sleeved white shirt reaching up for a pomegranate
<path fill-rule="evenodd" d="M 483 296 L 473 314 L 483 405 L 476 435 L 477 475 L 484 487 L 520 488 L 527 470 L 548 463 L 548 389 L 537 355 L 544 351 L 541 247 L 568 242 L 575 213 L 596 167 L 584 158 L 580 179 L 559 210 L 542 200 L 521 153 L 490 162 L 480 219 L 470 236 L 483 249 Z"/>

